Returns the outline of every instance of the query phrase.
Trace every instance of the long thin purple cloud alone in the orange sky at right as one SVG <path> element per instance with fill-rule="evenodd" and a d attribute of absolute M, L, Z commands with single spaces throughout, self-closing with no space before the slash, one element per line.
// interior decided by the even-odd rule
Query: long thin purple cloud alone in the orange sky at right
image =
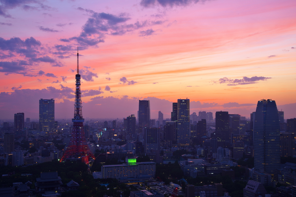
<path fill-rule="evenodd" d="M 271 77 L 264 77 L 264 76 L 252 76 L 247 77 L 243 76 L 242 79 L 229 79 L 227 77 L 220 78 L 218 81 L 213 81 L 213 84 L 227 84 L 229 86 L 236 86 L 236 85 L 246 85 L 246 84 L 255 84 L 258 81 L 266 81 L 267 79 L 271 79 Z"/>

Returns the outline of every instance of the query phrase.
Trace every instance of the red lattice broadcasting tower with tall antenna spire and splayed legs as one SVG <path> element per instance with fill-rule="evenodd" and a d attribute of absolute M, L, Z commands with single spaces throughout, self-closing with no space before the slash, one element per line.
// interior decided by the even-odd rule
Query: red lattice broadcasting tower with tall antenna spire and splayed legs
<path fill-rule="evenodd" d="M 65 159 L 71 160 L 79 160 L 81 159 L 82 162 L 90 165 L 91 159 L 95 159 L 94 154 L 89 149 L 87 145 L 84 131 L 83 131 L 83 122 L 84 118 L 82 117 L 82 110 L 81 110 L 81 92 L 80 92 L 80 74 L 79 74 L 79 56 L 77 50 L 77 74 L 75 76 L 76 79 L 76 90 L 75 90 L 75 111 L 74 111 L 74 118 L 72 118 L 73 122 L 73 130 L 72 136 L 67 147 L 66 151 L 63 154 L 62 159 L 60 162 L 64 162 Z"/>

